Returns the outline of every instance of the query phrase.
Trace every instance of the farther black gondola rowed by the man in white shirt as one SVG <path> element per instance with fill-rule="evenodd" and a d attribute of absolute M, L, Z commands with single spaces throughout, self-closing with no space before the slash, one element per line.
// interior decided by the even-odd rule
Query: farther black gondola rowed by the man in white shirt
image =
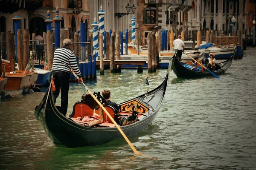
<path fill-rule="evenodd" d="M 230 68 L 235 54 L 236 54 L 236 49 L 234 50 L 233 55 L 229 59 L 225 60 L 224 62 L 216 63 L 215 69 L 211 70 L 211 72 L 214 73 L 215 75 L 224 74 L 227 71 L 227 69 Z M 174 59 L 172 60 L 172 70 L 177 77 L 189 78 L 189 77 L 212 76 L 212 74 L 207 70 L 204 70 L 204 71 L 190 70 L 186 68 L 184 64 L 185 63 L 180 62 L 177 58 L 177 55 L 175 55 Z"/>

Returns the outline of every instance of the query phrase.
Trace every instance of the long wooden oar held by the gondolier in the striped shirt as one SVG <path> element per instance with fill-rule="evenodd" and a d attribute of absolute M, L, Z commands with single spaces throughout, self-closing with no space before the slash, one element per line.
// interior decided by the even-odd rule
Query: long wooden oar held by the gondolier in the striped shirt
<path fill-rule="evenodd" d="M 79 79 L 78 76 L 76 76 L 76 74 L 73 72 L 74 76 Z M 141 156 L 145 156 L 144 154 L 138 152 L 135 147 L 131 144 L 131 142 L 129 141 L 129 139 L 127 138 L 127 136 L 125 135 L 125 133 L 122 131 L 122 129 L 117 125 L 116 121 L 111 117 L 111 115 L 108 113 L 108 111 L 104 108 L 104 106 L 101 104 L 101 102 L 99 102 L 99 100 L 92 94 L 92 92 L 89 90 L 89 88 L 87 88 L 87 86 L 81 82 L 81 84 L 84 86 L 84 88 L 89 92 L 89 94 L 93 97 L 93 99 L 99 104 L 99 106 L 103 109 L 103 111 L 105 111 L 105 113 L 108 115 L 108 117 L 111 119 L 111 121 L 113 122 L 113 124 L 116 126 L 116 128 L 119 130 L 119 132 L 122 134 L 122 136 L 125 138 L 126 142 L 130 145 L 131 149 L 134 151 L 135 154 L 137 155 L 141 155 Z"/>

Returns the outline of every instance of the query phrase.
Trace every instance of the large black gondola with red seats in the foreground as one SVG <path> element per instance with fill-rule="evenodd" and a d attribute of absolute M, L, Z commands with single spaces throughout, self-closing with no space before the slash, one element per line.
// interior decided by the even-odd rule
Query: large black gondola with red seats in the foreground
<path fill-rule="evenodd" d="M 120 103 L 120 113 L 116 114 L 116 110 L 109 105 L 104 106 L 126 136 L 147 129 L 157 116 L 166 94 L 171 62 L 172 60 L 163 82 L 146 94 Z M 101 103 L 105 103 L 99 92 L 94 92 L 94 95 Z M 60 107 L 54 105 L 50 83 L 41 103 L 35 108 L 35 117 L 58 147 L 93 146 L 123 138 L 105 113 L 102 114 L 102 123 L 89 126 L 92 121 L 100 119 L 100 109 L 93 97 L 86 94 L 74 104 L 69 117 L 63 116 L 59 111 Z"/>

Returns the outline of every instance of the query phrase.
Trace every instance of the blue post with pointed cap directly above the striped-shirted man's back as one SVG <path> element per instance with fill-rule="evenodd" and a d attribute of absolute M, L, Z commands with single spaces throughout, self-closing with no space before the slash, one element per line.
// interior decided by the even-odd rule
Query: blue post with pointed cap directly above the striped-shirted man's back
<path fill-rule="evenodd" d="M 60 44 L 61 44 L 61 38 L 60 38 L 60 34 L 61 34 L 61 17 L 58 16 L 58 7 L 56 8 L 56 16 L 55 18 L 53 18 L 54 22 L 55 22 L 55 34 L 54 34 L 54 47 L 55 50 L 60 48 Z"/>

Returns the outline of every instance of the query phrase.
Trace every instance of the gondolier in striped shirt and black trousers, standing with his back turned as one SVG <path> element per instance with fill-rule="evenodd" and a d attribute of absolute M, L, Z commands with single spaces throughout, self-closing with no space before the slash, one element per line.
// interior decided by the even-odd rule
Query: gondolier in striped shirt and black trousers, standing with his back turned
<path fill-rule="evenodd" d="M 56 102 L 61 89 L 61 113 L 66 116 L 68 105 L 68 91 L 70 68 L 79 77 L 78 82 L 83 82 L 79 67 L 76 63 L 76 56 L 70 51 L 71 40 L 64 39 L 63 47 L 55 50 L 52 63 L 53 82 L 56 90 L 53 91 L 53 101 Z"/>

